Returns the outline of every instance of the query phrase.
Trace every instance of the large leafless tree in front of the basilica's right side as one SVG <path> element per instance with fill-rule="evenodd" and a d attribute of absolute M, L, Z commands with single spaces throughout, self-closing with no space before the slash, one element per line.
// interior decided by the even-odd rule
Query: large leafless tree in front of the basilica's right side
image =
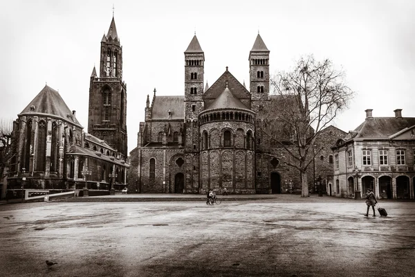
<path fill-rule="evenodd" d="M 282 147 L 291 159 L 286 165 L 299 170 L 302 197 L 308 197 L 307 168 L 320 150 L 314 151 L 317 134 L 347 107 L 354 92 L 344 84 L 344 71 L 330 60 L 317 62 L 302 57 L 295 68 L 280 72 L 270 81 L 277 101 L 270 101 L 270 124 L 263 132 L 271 143 Z"/>

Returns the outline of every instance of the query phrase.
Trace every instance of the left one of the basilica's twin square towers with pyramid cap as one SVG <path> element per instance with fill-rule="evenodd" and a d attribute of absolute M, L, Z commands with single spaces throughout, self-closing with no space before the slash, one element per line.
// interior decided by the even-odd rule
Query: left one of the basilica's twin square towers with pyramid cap
<path fill-rule="evenodd" d="M 185 190 L 199 193 L 199 122 L 203 111 L 205 54 L 194 35 L 185 51 Z"/>

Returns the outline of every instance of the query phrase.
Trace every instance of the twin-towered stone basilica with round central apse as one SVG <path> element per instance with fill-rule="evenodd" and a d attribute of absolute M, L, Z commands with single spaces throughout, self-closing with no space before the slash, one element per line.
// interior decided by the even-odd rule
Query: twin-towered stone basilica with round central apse
<path fill-rule="evenodd" d="M 147 96 L 145 121 L 130 152 L 129 191 L 300 191 L 299 172 L 284 165 L 290 157 L 262 132 L 270 119 L 267 107 L 280 99 L 270 95 L 270 51 L 261 36 L 249 52 L 248 88 L 228 67 L 212 86 L 204 87 L 205 55 L 196 35 L 184 54 L 184 95 L 158 96 L 154 90 L 151 103 Z M 344 136 L 337 130 L 333 144 Z"/>

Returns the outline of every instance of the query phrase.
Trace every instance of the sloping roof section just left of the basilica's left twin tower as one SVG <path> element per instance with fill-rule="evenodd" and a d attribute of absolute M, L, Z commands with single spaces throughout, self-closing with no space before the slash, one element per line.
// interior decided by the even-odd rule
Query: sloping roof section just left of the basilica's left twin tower
<path fill-rule="evenodd" d="M 184 101 L 185 96 L 154 96 L 151 119 L 184 119 Z M 169 118 L 169 110 L 172 111 L 172 118 Z"/>

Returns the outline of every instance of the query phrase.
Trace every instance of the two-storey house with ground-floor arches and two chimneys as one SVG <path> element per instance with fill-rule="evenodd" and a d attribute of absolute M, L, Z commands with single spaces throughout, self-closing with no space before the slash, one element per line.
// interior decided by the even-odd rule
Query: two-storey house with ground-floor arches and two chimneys
<path fill-rule="evenodd" d="M 365 121 L 332 148 L 333 195 L 362 197 L 371 188 L 378 198 L 414 198 L 415 118 L 394 112 L 374 117 L 367 109 Z"/>

